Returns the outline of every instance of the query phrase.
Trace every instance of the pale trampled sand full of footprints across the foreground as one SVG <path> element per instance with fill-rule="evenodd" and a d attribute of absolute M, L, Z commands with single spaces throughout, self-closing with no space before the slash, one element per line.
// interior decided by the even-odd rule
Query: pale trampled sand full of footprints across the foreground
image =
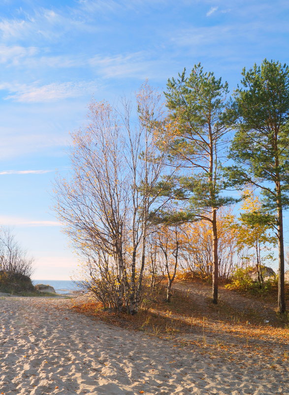
<path fill-rule="evenodd" d="M 77 314 L 70 304 L 0 297 L 0 393 L 289 395 L 288 361 L 270 368 L 256 355 L 238 362 L 201 355 Z"/>

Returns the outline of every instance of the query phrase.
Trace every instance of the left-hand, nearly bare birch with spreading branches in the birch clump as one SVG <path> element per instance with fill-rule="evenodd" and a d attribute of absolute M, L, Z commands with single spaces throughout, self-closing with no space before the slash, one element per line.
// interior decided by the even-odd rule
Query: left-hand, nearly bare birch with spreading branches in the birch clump
<path fill-rule="evenodd" d="M 114 260 L 118 303 L 126 290 L 125 242 L 128 215 L 128 175 L 124 142 L 114 109 L 93 102 L 90 124 L 72 135 L 71 177 L 56 181 L 56 210 L 73 245 L 98 262 L 103 251 Z"/>

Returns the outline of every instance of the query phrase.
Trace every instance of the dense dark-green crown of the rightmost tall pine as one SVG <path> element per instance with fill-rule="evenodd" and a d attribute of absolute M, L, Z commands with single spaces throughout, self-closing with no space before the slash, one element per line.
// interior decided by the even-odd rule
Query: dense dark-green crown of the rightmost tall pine
<path fill-rule="evenodd" d="M 277 197 L 288 207 L 289 67 L 265 59 L 261 66 L 243 69 L 242 76 L 230 110 L 237 130 L 229 155 L 237 165 L 227 168 L 230 184 L 259 185 L 266 209 L 276 209 Z"/>

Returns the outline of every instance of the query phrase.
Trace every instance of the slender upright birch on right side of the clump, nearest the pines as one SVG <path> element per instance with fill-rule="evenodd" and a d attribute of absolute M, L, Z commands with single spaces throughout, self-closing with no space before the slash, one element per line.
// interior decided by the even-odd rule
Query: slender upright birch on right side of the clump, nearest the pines
<path fill-rule="evenodd" d="M 163 202 L 158 203 L 162 187 L 159 185 L 164 174 L 166 149 L 159 150 L 157 146 L 156 128 L 165 122 L 164 106 L 161 95 L 148 83 L 144 83 L 136 94 L 137 125 L 131 122 L 131 107 L 124 102 L 122 119 L 127 135 L 126 163 L 129 179 L 131 180 L 131 221 L 130 234 L 132 243 L 131 277 L 130 277 L 130 314 L 138 311 L 143 276 L 146 261 L 147 235 L 150 226 L 149 212 L 161 208 Z M 163 144 L 166 144 L 163 142 Z M 169 179 L 169 177 L 168 177 Z M 136 259 L 139 251 L 140 267 L 136 276 Z"/>

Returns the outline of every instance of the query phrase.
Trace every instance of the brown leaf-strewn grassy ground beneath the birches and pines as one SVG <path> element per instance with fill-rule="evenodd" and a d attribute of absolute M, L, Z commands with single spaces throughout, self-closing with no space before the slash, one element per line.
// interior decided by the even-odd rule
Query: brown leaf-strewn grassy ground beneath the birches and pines
<path fill-rule="evenodd" d="M 191 283 L 192 288 L 194 287 Z M 196 286 L 195 286 L 196 287 Z M 198 283 L 198 287 L 202 287 Z M 146 334 L 164 340 L 174 340 L 177 345 L 188 347 L 197 345 L 206 352 L 213 348 L 218 352 L 227 352 L 241 346 L 241 352 L 262 349 L 270 354 L 270 347 L 289 345 L 288 316 L 278 316 L 264 323 L 254 309 L 236 309 L 230 305 L 229 298 L 222 295 L 218 305 L 211 303 L 209 297 L 203 297 L 201 303 L 194 298 L 193 290 L 175 289 L 171 303 L 166 303 L 165 289 L 159 287 L 153 298 L 134 316 L 126 313 L 105 311 L 101 303 L 88 301 L 75 304 L 73 309 L 79 313 L 94 317 L 110 325 L 131 330 L 144 331 Z M 225 288 L 223 289 L 225 292 Z M 252 299 L 254 304 L 254 299 Z M 234 351 L 235 352 L 235 351 Z M 252 351 L 253 352 L 253 351 Z M 284 354 L 287 356 L 287 354 Z M 287 358 L 287 357 L 286 357 Z"/>

